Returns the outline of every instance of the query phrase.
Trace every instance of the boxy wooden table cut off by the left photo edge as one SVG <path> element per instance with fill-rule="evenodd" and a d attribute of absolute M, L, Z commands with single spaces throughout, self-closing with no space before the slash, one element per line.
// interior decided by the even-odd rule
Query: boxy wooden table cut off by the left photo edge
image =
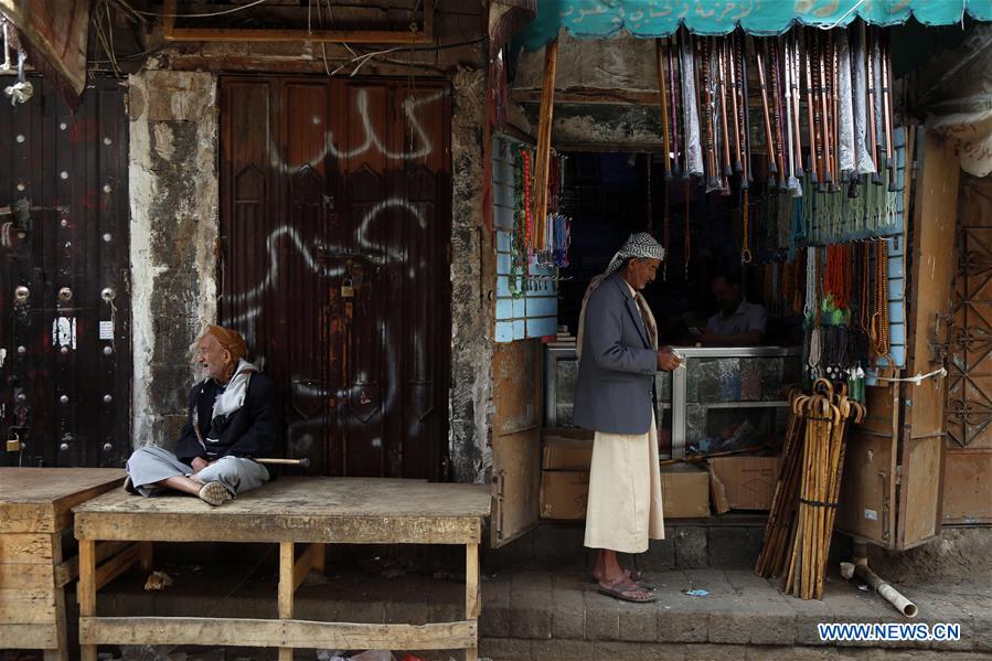
<path fill-rule="evenodd" d="M 119 486 L 108 468 L 0 468 L 0 640 L 68 659 L 65 584 L 77 558 L 64 557 L 62 534 L 72 508 Z M 114 548 L 100 548 L 106 555 Z"/>

